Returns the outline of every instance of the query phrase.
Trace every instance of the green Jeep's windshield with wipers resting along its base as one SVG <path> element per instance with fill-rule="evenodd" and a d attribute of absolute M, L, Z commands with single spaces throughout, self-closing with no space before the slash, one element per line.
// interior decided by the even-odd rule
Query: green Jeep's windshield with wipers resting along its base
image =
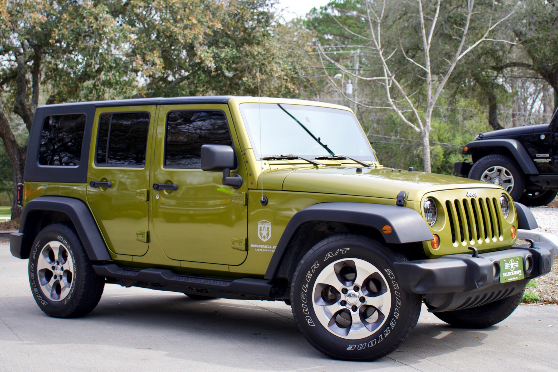
<path fill-rule="evenodd" d="M 240 113 L 258 159 L 281 154 L 309 158 L 339 154 L 376 161 L 368 139 L 349 111 L 306 105 L 242 103 Z"/>

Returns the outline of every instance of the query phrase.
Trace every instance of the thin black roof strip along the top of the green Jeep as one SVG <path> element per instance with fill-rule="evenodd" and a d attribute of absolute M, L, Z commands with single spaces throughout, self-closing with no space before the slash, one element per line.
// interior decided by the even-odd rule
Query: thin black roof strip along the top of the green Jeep
<path fill-rule="evenodd" d="M 54 105 L 44 105 L 38 110 L 50 109 L 76 109 L 85 107 L 110 107 L 110 106 L 143 106 L 143 105 L 174 105 L 174 104 L 227 104 L 232 95 L 214 95 L 214 96 L 192 96 L 192 97 L 171 97 L 171 98 L 132 98 L 132 99 L 115 99 L 107 101 L 92 102 L 74 102 L 60 103 Z"/>

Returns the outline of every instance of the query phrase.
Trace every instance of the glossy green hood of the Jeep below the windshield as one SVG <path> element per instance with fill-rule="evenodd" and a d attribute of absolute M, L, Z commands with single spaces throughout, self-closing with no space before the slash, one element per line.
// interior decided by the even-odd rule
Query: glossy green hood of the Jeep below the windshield
<path fill-rule="evenodd" d="M 501 189 L 485 182 L 434 173 L 399 171 L 391 168 L 361 169 L 362 172 L 357 172 L 355 167 L 272 169 L 263 173 L 263 185 L 267 190 L 359 195 L 384 199 L 397 199 L 400 191 L 406 191 L 407 200 L 413 201 L 420 201 L 427 192 L 437 190 L 479 187 Z"/>

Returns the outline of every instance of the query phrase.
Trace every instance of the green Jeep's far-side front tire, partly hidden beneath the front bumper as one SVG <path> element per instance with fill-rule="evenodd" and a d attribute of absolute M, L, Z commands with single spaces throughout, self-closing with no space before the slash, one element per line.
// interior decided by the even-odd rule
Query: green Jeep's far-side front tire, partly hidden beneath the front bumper
<path fill-rule="evenodd" d="M 435 312 L 440 320 L 458 328 L 486 328 L 506 319 L 516 310 L 525 289 L 514 296 L 463 310 Z"/>

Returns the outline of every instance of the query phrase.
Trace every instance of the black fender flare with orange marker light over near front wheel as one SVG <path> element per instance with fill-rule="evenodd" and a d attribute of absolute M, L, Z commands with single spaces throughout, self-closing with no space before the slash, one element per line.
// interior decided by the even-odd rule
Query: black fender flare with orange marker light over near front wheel
<path fill-rule="evenodd" d="M 384 225 L 389 225 L 392 227 L 392 233 L 389 235 L 382 234 L 386 243 L 402 244 L 432 240 L 432 231 L 430 231 L 424 218 L 410 208 L 362 202 L 314 204 L 292 216 L 277 243 L 264 278 L 268 280 L 275 278 L 277 269 L 285 257 L 287 247 L 300 226 L 314 221 L 369 226 L 380 233 L 382 233 Z"/>

